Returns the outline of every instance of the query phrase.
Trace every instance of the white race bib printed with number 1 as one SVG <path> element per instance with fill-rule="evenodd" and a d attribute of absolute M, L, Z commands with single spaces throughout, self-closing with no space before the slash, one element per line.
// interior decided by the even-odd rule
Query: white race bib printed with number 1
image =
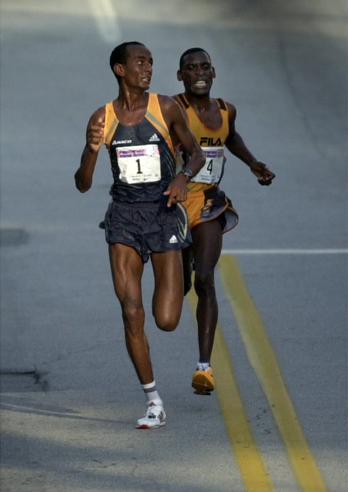
<path fill-rule="evenodd" d="M 161 179 L 161 160 L 158 145 L 118 147 L 117 163 L 122 183 L 153 183 Z"/>

